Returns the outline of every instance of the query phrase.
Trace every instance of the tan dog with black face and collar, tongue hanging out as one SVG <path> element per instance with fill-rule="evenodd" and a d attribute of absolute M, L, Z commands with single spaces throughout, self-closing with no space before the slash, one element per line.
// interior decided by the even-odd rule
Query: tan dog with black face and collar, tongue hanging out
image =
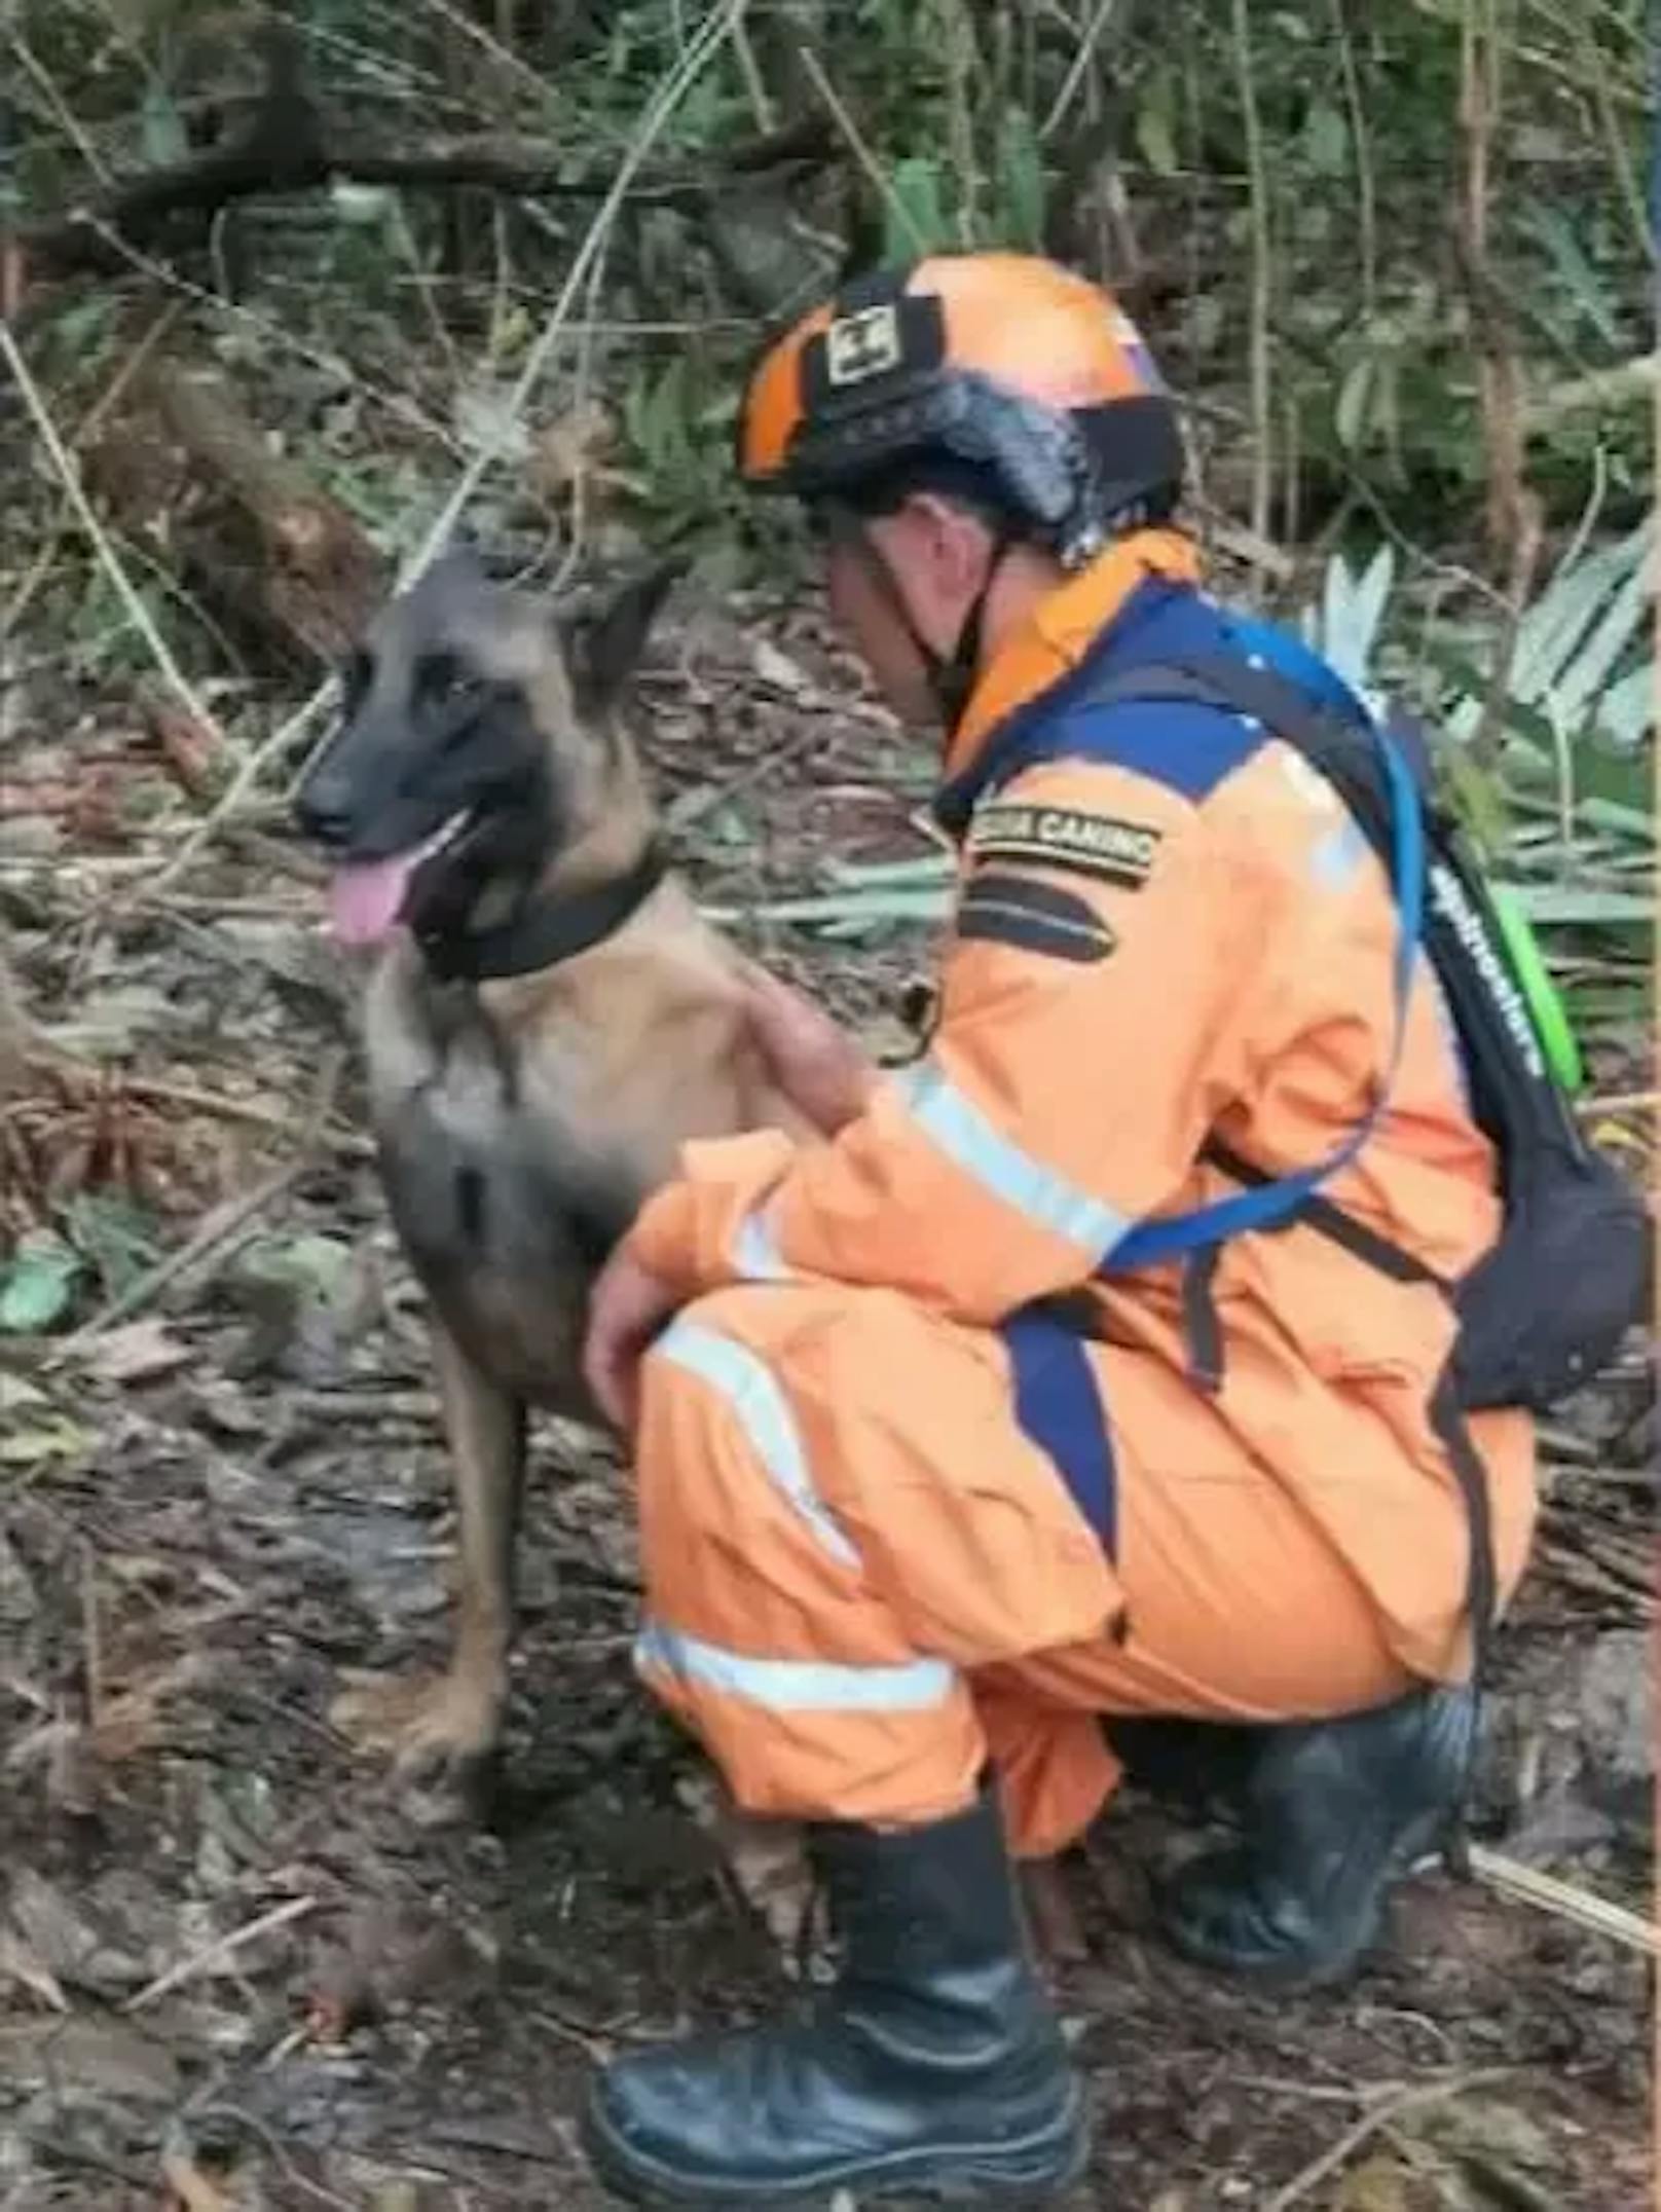
<path fill-rule="evenodd" d="M 502 1736 L 529 1413 L 599 1427 L 595 1274 L 683 1141 L 807 1135 L 748 1035 L 737 947 L 664 863 L 628 728 L 672 577 L 555 606 L 447 553 L 369 626 L 294 801 L 334 863 L 334 933 L 369 956 L 369 1117 L 429 1303 L 460 1531 L 445 1672 L 347 1692 L 332 1719 L 462 1798 Z M 712 1825 L 774 1933 L 801 1933 L 781 1823 Z"/>

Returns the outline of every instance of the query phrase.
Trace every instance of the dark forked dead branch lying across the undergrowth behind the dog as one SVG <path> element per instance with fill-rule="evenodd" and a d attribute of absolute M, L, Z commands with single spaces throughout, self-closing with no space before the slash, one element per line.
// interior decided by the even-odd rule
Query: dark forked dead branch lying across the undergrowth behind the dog
<path fill-rule="evenodd" d="M 473 186 L 529 199 L 604 199 L 615 181 L 615 157 L 573 170 L 568 157 L 544 139 L 482 135 L 363 144 L 356 133 L 336 131 L 314 100 L 294 27 L 270 22 L 257 38 L 265 86 L 248 124 L 223 146 L 115 184 L 62 215 L 11 228 L 7 252 L 15 265 L 4 290 L 13 305 L 31 276 L 119 270 L 122 241 L 155 248 L 184 226 L 199 234 L 219 210 L 239 199 L 316 192 L 336 181 L 433 190 Z M 827 122 L 805 117 L 728 146 L 719 161 L 706 166 L 648 164 L 630 184 L 628 197 L 659 206 L 701 206 L 734 175 L 816 168 L 832 157 Z"/>

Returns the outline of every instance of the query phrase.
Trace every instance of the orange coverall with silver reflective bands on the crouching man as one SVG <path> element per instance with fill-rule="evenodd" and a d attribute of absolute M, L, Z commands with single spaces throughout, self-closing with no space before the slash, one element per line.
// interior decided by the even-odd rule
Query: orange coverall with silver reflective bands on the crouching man
<path fill-rule="evenodd" d="M 982 677 L 962 774 L 1143 580 L 1166 531 L 1059 586 Z M 975 810 L 927 1055 L 823 1144 L 692 1144 L 637 1259 L 686 1296 L 641 1371 L 637 1666 L 737 1798 L 920 1823 L 991 1756 L 1022 1856 L 1117 1765 L 1099 1714 L 1300 1719 L 1469 1668 L 1469 1528 L 1427 1402 L 1442 1296 L 1307 1225 L 1232 1239 L 1223 1380 L 1197 1387 L 1174 1265 L 1097 1267 L 1132 1223 L 1287 1172 L 1362 1117 L 1396 1035 L 1398 914 L 1336 794 L 1267 737 L 1203 796 L 1059 759 Z M 1493 1241 L 1420 960 L 1387 1113 L 1325 1194 L 1442 1274 Z M 1110 1524 L 1017 1418 L 1000 1325 L 1088 1301 Z M 1044 1354 L 1026 1378 L 1042 1396 Z M 1535 1513 L 1533 1422 L 1482 1413 L 1497 1584 Z"/>

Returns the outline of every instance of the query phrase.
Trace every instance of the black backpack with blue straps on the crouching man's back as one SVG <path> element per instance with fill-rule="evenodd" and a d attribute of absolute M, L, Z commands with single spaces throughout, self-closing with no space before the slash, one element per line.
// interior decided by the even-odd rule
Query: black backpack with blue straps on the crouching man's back
<path fill-rule="evenodd" d="M 1236 653 L 1172 657 L 1086 677 L 1070 703 L 1181 701 L 1247 714 L 1294 745 L 1336 787 L 1385 860 L 1396 891 L 1400 933 L 1391 1064 L 1362 1119 L 1327 1159 L 1309 1168 L 1276 1177 L 1210 1141 L 1203 1157 L 1241 1183 L 1239 1194 L 1141 1223 L 1119 1241 L 1108 1265 L 1119 1274 L 1185 1261 L 1183 1303 L 1201 1383 L 1212 1365 L 1210 1276 L 1230 1237 L 1305 1223 L 1362 1265 L 1396 1281 L 1429 1281 L 1444 1292 L 1458 1314 L 1458 1338 L 1431 1402 L 1431 1420 L 1471 1522 L 1469 1613 L 1480 1681 L 1497 1610 L 1495 1562 L 1486 1471 L 1464 1416 L 1486 1407 L 1539 1413 L 1590 1380 L 1648 1310 L 1650 1217 L 1575 1121 L 1493 896 L 1458 823 L 1431 794 L 1424 732 L 1400 712 L 1391 712 L 1389 721 L 1373 719 L 1323 661 L 1292 639 L 1256 624 L 1239 624 L 1239 633 L 1245 633 L 1245 644 Z M 1300 679 L 1270 666 L 1270 655 L 1292 661 Z M 1438 1276 L 1320 1192 L 1360 1152 L 1389 1102 L 1420 947 L 1442 984 L 1471 1110 L 1500 1168 L 1500 1237 L 1458 1281 Z M 1216 1380 L 1221 1371 L 1212 1374 L 1212 1387 Z"/>

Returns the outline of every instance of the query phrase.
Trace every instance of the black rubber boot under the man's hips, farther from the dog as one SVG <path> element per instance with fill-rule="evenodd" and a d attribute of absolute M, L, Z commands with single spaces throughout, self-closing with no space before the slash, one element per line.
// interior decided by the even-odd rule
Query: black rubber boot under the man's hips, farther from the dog
<path fill-rule="evenodd" d="M 1453 1827 L 1473 1741 L 1464 1688 L 1263 1730 L 1243 1776 L 1243 1840 L 1163 1887 L 1168 1940 L 1276 1986 L 1343 1980 L 1376 1942 L 1391 1882 Z"/>

